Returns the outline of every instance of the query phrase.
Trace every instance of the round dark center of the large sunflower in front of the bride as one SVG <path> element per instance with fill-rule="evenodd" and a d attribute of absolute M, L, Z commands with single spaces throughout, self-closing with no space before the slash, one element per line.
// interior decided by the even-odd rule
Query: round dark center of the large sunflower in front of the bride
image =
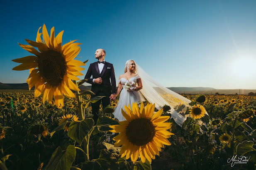
<path fill-rule="evenodd" d="M 136 146 L 143 146 L 149 143 L 155 134 L 156 130 L 153 123 L 145 118 L 134 119 L 126 127 L 128 140 Z"/>

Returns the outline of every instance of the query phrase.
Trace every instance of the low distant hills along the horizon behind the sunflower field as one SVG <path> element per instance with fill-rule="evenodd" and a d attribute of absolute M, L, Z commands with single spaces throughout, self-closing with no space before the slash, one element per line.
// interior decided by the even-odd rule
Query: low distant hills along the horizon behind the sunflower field
<path fill-rule="evenodd" d="M 28 90 L 28 84 L 27 83 L 20 83 L 20 84 L 11 84 L 11 83 L 0 83 L 0 92 L 3 92 L 5 90 Z M 84 90 L 90 90 L 91 86 L 79 86 L 79 89 L 81 91 Z M 176 92 L 176 93 L 182 93 L 182 94 L 239 94 L 239 89 L 214 89 L 211 87 L 168 87 L 168 89 Z M 32 88 L 34 91 L 34 87 Z M 31 91 L 30 91 L 31 92 Z M 240 94 L 248 94 L 250 92 L 256 93 L 256 89 L 240 89 Z"/>

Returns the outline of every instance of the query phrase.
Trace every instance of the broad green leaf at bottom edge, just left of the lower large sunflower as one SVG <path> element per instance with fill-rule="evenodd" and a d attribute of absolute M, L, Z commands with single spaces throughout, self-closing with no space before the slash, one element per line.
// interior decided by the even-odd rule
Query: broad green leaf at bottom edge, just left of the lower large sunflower
<path fill-rule="evenodd" d="M 117 158 L 115 154 L 107 151 L 107 149 L 102 149 L 100 151 L 100 156 L 98 159 L 93 159 L 91 161 L 85 161 L 82 164 L 81 170 L 119 170 L 117 163 Z"/>

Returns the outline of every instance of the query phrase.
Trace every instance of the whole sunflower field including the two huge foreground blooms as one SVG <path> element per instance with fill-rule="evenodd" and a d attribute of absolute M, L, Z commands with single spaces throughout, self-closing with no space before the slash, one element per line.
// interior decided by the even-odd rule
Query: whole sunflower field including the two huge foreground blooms
<path fill-rule="evenodd" d="M 62 44 L 63 31 L 40 29 L 36 41 L 19 44 L 33 55 L 12 60 L 20 63 L 13 70 L 29 70 L 34 93 L 0 93 L 1 169 L 255 169 L 256 96 L 183 95 L 191 101 L 185 113 L 182 103 L 133 103 L 120 122 L 117 96 L 94 122 L 91 103 L 105 96 L 79 89 L 88 62 L 74 60 L 81 43 Z M 171 109 L 186 118 L 182 127 Z"/>

